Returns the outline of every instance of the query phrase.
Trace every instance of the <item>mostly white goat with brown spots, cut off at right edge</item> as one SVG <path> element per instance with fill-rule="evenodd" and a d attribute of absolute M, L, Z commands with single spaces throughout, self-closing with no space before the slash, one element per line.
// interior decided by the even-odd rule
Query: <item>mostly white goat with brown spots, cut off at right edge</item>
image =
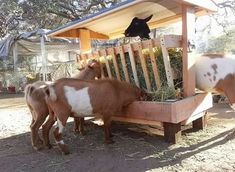
<path fill-rule="evenodd" d="M 213 93 L 223 93 L 235 109 L 235 56 L 205 54 L 196 63 L 196 87 Z"/>

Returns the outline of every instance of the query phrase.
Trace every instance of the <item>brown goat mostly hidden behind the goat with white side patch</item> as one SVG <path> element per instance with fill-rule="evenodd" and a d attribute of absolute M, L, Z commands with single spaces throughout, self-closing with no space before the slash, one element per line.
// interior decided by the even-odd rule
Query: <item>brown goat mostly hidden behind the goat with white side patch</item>
<path fill-rule="evenodd" d="M 88 65 L 80 71 L 80 73 L 75 78 L 78 79 L 94 79 L 95 77 L 101 77 L 100 63 L 96 60 L 91 60 Z M 46 120 L 49 114 L 49 109 L 45 101 L 45 94 L 43 92 L 43 87 L 47 86 L 47 82 L 38 81 L 33 84 L 29 84 L 25 88 L 25 98 L 26 103 L 32 114 L 32 122 L 30 125 L 31 129 L 31 143 L 34 149 L 38 150 L 42 147 L 43 141 L 40 139 L 38 130 L 41 125 Z M 53 113 L 53 112 L 51 112 Z M 49 117 L 50 118 L 50 117 Z M 74 130 L 83 133 L 83 118 L 74 119 Z M 51 147 L 49 142 L 49 130 L 54 124 L 53 120 L 48 119 L 46 123 L 42 126 L 42 134 L 44 145 L 48 148 Z"/>

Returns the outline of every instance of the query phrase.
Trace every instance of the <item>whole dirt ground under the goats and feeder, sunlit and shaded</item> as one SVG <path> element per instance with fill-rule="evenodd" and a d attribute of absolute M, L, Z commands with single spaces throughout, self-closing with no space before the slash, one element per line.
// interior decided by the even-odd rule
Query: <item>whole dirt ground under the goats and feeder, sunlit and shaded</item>
<path fill-rule="evenodd" d="M 55 145 L 50 150 L 33 150 L 29 133 L 31 116 L 24 99 L 2 96 L 0 171 L 235 171 L 234 117 L 228 105 L 215 104 L 209 110 L 208 127 L 197 132 L 184 131 L 182 141 L 176 145 L 164 142 L 160 135 L 133 131 L 138 125 L 114 123 L 115 143 L 107 146 L 103 144 L 100 126 L 87 121 L 86 135 L 80 136 L 72 132 L 70 122 L 64 140 L 71 154 L 63 156 Z M 53 137 L 51 142 L 54 143 Z"/>

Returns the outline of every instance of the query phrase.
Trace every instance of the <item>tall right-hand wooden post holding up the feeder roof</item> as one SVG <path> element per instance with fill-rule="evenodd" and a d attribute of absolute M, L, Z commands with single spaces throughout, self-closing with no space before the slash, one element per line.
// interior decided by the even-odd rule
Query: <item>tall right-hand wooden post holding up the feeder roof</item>
<path fill-rule="evenodd" d="M 188 52 L 188 41 L 195 34 L 195 9 L 182 5 L 182 46 L 183 46 L 183 93 L 184 97 L 195 93 L 195 69 L 193 54 Z"/>

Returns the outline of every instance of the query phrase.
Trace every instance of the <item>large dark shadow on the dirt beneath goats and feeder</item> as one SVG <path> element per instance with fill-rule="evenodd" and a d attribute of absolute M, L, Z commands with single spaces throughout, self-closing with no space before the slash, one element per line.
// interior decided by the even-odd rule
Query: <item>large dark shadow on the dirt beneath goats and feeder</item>
<path fill-rule="evenodd" d="M 225 144 L 234 139 L 233 130 L 191 146 L 176 146 L 164 142 L 161 136 L 149 136 L 129 130 L 130 124 L 114 123 L 112 145 L 103 144 L 102 128 L 86 124 L 86 135 L 75 135 L 72 123 L 66 126 L 64 140 L 70 155 L 62 156 L 57 146 L 50 150 L 34 151 L 30 134 L 0 140 L 1 171 L 118 171 L 142 172 L 180 164 L 197 153 Z M 54 139 L 51 137 L 52 142 Z"/>

